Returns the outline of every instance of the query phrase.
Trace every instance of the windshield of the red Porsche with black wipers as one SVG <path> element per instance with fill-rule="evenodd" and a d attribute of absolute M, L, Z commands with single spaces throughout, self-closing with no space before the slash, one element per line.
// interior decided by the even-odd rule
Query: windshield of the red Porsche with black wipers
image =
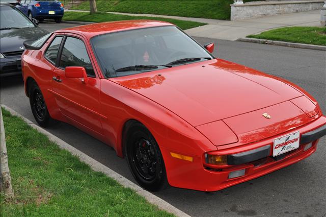
<path fill-rule="evenodd" d="M 99 35 L 91 39 L 91 44 L 106 78 L 212 58 L 199 44 L 174 26 Z"/>

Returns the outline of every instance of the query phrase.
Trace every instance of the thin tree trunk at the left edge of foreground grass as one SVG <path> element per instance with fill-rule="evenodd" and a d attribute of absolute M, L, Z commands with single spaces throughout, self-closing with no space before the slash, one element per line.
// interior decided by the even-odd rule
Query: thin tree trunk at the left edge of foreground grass
<path fill-rule="evenodd" d="M 9 198 L 14 196 L 14 191 L 11 186 L 11 177 L 8 166 L 8 155 L 7 155 L 7 147 L 6 147 L 6 137 L 5 137 L 5 127 L 4 120 L 2 118 L 2 110 L 0 107 L 0 188 L 1 191 L 4 191 L 5 195 Z"/>

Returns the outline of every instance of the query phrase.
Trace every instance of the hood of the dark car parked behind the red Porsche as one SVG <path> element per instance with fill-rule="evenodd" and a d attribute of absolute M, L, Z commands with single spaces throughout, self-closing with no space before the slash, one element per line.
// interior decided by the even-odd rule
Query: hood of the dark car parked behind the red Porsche
<path fill-rule="evenodd" d="M 39 27 L 35 28 L 23 28 L 13 30 L 1 30 L 0 39 L 0 52 L 13 52 L 21 50 L 23 42 L 26 40 L 36 40 L 44 35 L 48 34 L 46 30 Z"/>

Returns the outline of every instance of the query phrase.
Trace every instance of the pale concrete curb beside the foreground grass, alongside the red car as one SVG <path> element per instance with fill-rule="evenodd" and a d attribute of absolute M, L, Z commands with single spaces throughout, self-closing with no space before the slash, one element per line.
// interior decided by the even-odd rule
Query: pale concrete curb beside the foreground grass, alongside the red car
<path fill-rule="evenodd" d="M 121 176 L 120 174 L 116 173 L 115 171 L 111 170 L 107 166 L 101 164 L 100 162 L 96 161 L 95 159 L 91 158 L 90 156 L 86 155 L 85 153 L 83 153 L 83 152 L 79 151 L 78 149 L 70 146 L 70 144 L 63 141 L 59 137 L 53 135 L 52 133 L 46 131 L 43 128 L 37 126 L 36 124 L 31 122 L 31 120 L 25 118 L 24 116 L 17 113 L 16 111 L 9 108 L 8 106 L 1 105 L 1 107 L 6 109 L 7 111 L 9 111 L 12 115 L 22 118 L 24 120 L 24 122 L 26 122 L 32 128 L 36 129 L 40 133 L 45 134 L 51 141 L 56 142 L 61 149 L 65 149 L 65 150 L 69 151 L 71 154 L 77 156 L 80 161 L 87 163 L 89 166 L 91 166 L 91 168 L 94 171 L 102 172 L 106 176 L 115 179 L 122 186 L 131 188 L 138 195 L 144 197 L 149 203 L 156 205 L 159 209 L 165 210 L 165 211 L 170 212 L 170 213 L 173 213 L 176 216 L 191 217 L 190 215 L 188 215 L 188 214 L 184 213 L 183 211 L 179 210 L 178 208 L 172 206 L 171 204 L 169 204 L 165 200 L 160 199 L 159 197 L 153 195 L 151 192 L 141 188 L 137 184 L 134 184 L 130 180 L 126 179 L 125 177 Z"/>

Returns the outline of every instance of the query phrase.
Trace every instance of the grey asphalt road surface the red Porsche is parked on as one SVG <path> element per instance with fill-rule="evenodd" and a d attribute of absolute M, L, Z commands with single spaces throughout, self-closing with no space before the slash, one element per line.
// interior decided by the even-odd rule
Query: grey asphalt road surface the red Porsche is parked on
<path fill-rule="evenodd" d="M 73 26 L 41 23 L 53 31 Z M 214 55 L 296 83 L 317 99 L 325 112 L 326 52 L 274 45 L 196 38 L 215 43 Z M 35 122 L 20 77 L 1 80 L 1 103 Z M 266 96 L 267 97 L 267 96 Z M 134 182 L 124 159 L 86 133 L 60 123 L 48 129 L 75 148 Z M 326 216 L 326 139 L 311 157 L 269 175 L 205 193 L 170 187 L 158 197 L 192 216 Z"/>

